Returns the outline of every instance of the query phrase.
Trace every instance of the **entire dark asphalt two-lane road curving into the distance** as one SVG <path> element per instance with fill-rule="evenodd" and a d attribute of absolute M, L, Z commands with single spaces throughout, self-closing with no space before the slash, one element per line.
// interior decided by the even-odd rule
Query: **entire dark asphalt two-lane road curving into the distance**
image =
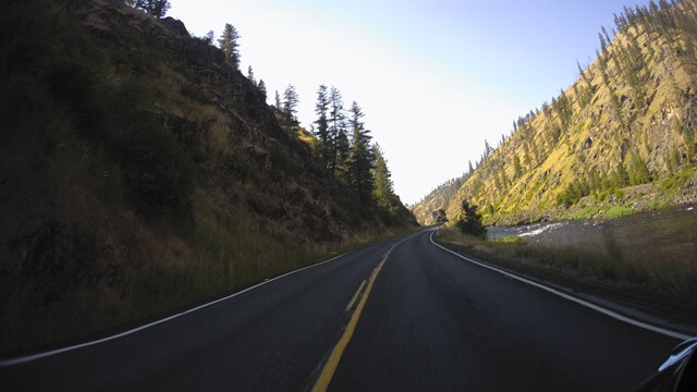
<path fill-rule="evenodd" d="M 5 358 L 0 390 L 632 391 L 678 343 L 469 264 L 430 234 L 121 338 Z"/>

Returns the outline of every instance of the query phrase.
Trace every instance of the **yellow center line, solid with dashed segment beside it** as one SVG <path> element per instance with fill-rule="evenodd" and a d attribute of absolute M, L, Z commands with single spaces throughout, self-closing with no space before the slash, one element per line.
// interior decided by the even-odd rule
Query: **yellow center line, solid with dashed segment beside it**
<path fill-rule="evenodd" d="M 351 338 L 353 336 L 353 332 L 355 331 L 356 324 L 358 323 L 358 319 L 360 318 L 360 313 L 363 311 L 363 308 L 366 306 L 366 302 L 368 302 L 370 290 L 372 290 L 372 284 L 375 284 L 375 280 L 376 278 L 378 278 L 378 273 L 380 273 L 380 270 L 382 269 L 384 261 L 387 261 L 388 257 L 390 257 L 392 249 L 394 249 L 398 245 L 400 245 L 407 238 L 404 238 L 399 243 L 394 244 L 394 246 L 392 246 L 390 250 L 388 250 L 384 254 L 378 267 L 376 267 L 372 270 L 372 273 L 368 279 L 368 284 L 366 285 L 366 290 L 363 293 L 363 296 L 360 296 L 360 291 L 366 283 L 365 280 L 358 286 L 358 290 L 356 291 L 356 294 L 354 294 L 353 298 L 351 298 L 351 302 L 346 306 L 345 311 L 351 310 L 356 299 L 360 297 L 360 299 L 358 301 L 358 305 L 356 306 L 356 309 L 351 316 L 351 320 L 348 321 L 348 324 L 344 330 L 344 334 L 341 336 L 341 339 L 339 340 L 339 343 L 337 343 L 334 348 L 331 351 L 331 354 L 329 355 L 329 359 L 327 360 L 327 364 L 325 364 L 325 367 L 322 368 L 322 372 L 319 375 L 319 379 L 317 379 L 315 387 L 313 387 L 313 392 L 327 391 L 327 388 L 329 387 L 329 382 L 331 382 L 332 377 L 334 377 L 334 372 L 337 371 L 337 367 L 339 366 L 341 356 L 343 355 L 344 350 L 346 348 L 346 346 L 348 345 L 348 342 L 351 341 Z"/>

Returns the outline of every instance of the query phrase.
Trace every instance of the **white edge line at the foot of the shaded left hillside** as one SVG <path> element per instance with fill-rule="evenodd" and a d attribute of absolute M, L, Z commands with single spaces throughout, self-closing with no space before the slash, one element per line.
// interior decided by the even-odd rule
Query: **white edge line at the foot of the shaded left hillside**
<path fill-rule="evenodd" d="M 272 279 L 269 279 L 269 280 L 265 280 L 261 283 L 257 283 L 257 284 L 255 284 L 255 285 L 253 285 L 250 287 L 247 287 L 245 290 L 242 290 L 242 291 L 239 291 L 236 293 L 230 294 L 230 295 L 228 295 L 225 297 L 218 298 L 216 301 L 199 305 L 199 306 L 197 306 L 195 308 L 186 309 L 186 310 L 184 310 L 182 313 L 166 317 L 166 318 L 157 320 L 157 321 L 152 321 L 150 323 L 147 323 L 147 324 L 144 324 L 144 326 L 140 326 L 140 327 L 127 330 L 127 331 L 123 331 L 123 332 L 117 333 L 117 334 L 111 335 L 111 336 L 107 336 L 107 338 L 102 338 L 102 339 L 98 339 L 98 340 L 95 340 L 95 341 L 85 342 L 85 343 L 81 343 L 81 344 L 75 344 L 75 345 L 68 346 L 68 347 L 51 350 L 51 351 L 44 352 L 44 353 L 38 353 L 38 354 L 20 356 L 20 357 L 16 357 L 16 358 L 10 358 L 10 359 L 5 359 L 5 360 L 0 360 L 0 367 L 8 367 L 8 366 L 13 366 L 13 365 L 25 364 L 25 363 L 28 363 L 28 362 L 32 362 L 32 360 L 36 360 L 36 359 L 40 359 L 40 358 L 45 358 L 45 357 L 48 357 L 48 356 L 52 356 L 52 355 L 70 352 L 70 351 L 73 351 L 73 350 L 77 350 L 77 348 L 87 347 L 87 346 L 90 346 L 90 345 L 96 345 L 96 344 L 109 342 L 109 341 L 112 341 L 112 340 L 115 340 L 115 339 L 119 339 L 119 338 L 127 336 L 127 335 L 130 335 L 132 333 L 136 333 L 138 331 L 143 331 L 144 329 L 148 329 L 150 327 L 155 327 L 157 324 L 173 320 L 175 318 L 182 317 L 182 316 L 187 315 L 189 313 L 194 313 L 196 310 L 200 310 L 200 309 L 206 308 L 208 306 L 218 304 L 219 302 L 228 301 L 228 299 L 230 299 L 232 297 L 235 297 L 237 295 L 244 294 L 244 293 L 246 293 L 246 292 L 248 292 L 250 290 L 260 287 L 260 286 L 262 286 L 262 285 L 265 285 L 267 283 L 271 283 L 274 280 L 281 279 L 281 278 L 285 278 L 288 275 L 291 275 L 293 273 L 306 270 L 308 268 L 321 266 L 321 265 L 323 265 L 326 262 L 329 262 L 329 261 L 335 260 L 335 259 L 338 259 L 340 257 L 346 256 L 347 254 L 348 253 L 344 253 L 344 254 L 341 254 L 339 256 L 334 256 L 334 257 L 330 258 L 329 260 L 320 261 L 320 262 L 314 264 L 311 266 L 307 266 L 307 267 L 298 268 L 298 269 L 290 271 L 290 272 L 285 272 L 282 275 L 278 275 L 276 278 L 272 278 Z"/>

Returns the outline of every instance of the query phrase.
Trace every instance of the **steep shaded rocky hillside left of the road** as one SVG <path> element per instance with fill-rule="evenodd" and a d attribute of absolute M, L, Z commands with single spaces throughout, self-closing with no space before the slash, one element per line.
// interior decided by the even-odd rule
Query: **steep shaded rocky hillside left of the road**
<path fill-rule="evenodd" d="M 113 0 L 3 3 L 0 70 L 0 351 L 390 233 L 182 22 Z"/>

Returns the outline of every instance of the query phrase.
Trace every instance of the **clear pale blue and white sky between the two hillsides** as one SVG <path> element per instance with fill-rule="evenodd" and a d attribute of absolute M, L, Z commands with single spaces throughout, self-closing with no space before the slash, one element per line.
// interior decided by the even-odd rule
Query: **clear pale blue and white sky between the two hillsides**
<path fill-rule="evenodd" d="M 170 0 L 189 33 L 225 23 L 241 35 L 241 70 L 269 91 L 289 84 L 309 128 L 317 88 L 355 100 L 384 150 L 398 195 L 413 204 L 498 145 L 518 115 L 576 79 L 614 26 L 622 0 Z"/>

